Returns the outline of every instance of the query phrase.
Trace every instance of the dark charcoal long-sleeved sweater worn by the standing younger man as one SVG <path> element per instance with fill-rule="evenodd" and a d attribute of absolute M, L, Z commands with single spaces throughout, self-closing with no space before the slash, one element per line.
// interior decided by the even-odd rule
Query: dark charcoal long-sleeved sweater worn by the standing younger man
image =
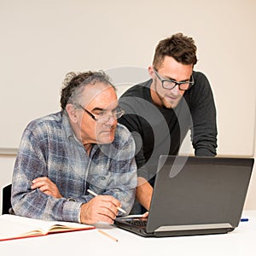
<path fill-rule="evenodd" d="M 189 129 L 195 155 L 216 155 L 216 109 L 207 77 L 193 72 L 195 84 L 183 94 L 177 108 L 159 108 L 150 95 L 152 79 L 125 91 L 119 105 L 125 115 L 119 122 L 137 144 L 138 176 L 154 177 L 160 154 L 178 154 Z"/>

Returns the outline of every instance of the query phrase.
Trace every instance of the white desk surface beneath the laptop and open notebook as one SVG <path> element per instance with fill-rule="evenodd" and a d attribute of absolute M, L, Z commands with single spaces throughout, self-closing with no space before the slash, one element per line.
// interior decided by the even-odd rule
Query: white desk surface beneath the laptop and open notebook
<path fill-rule="evenodd" d="M 256 255 L 256 211 L 246 211 L 236 230 L 224 235 L 143 238 L 114 226 L 101 227 L 118 242 L 96 230 L 1 241 L 1 256 L 79 255 Z"/>

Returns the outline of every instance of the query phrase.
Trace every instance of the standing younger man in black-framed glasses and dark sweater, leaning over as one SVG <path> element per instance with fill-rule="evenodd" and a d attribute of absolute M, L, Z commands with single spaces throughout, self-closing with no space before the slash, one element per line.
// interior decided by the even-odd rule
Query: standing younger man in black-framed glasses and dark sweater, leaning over
<path fill-rule="evenodd" d="M 189 129 L 195 155 L 216 154 L 216 110 L 210 84 L 195 72 L 196 46 L 177 33 L 157 45 L 151 77 L 127 90 L 119 100 L 125 115 L 119 120 L 137 144 L 137 201 L 149 209 L 160 154 L 178 154 Z M 143 212 L 135 208 L 134 213 Z"/>

